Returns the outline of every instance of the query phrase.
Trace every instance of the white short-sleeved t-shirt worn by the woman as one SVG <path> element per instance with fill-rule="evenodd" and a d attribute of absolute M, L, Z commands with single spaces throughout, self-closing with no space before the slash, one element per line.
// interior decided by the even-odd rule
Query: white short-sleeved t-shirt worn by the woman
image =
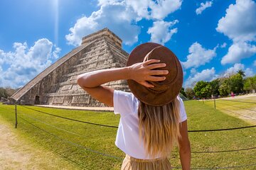
<path fill-rule="evenodd" d="M 186 111 L 182 99 L 181 102 L 181 122 L 187 119 Z M 146 154 L 143 139 L 139 137 L 139 100 L 132 93 L 114 90 L 114 114 L 121 115 L 117 130 L 115 145 L 124 153 L 137 159 L 154 159 Z"/>

